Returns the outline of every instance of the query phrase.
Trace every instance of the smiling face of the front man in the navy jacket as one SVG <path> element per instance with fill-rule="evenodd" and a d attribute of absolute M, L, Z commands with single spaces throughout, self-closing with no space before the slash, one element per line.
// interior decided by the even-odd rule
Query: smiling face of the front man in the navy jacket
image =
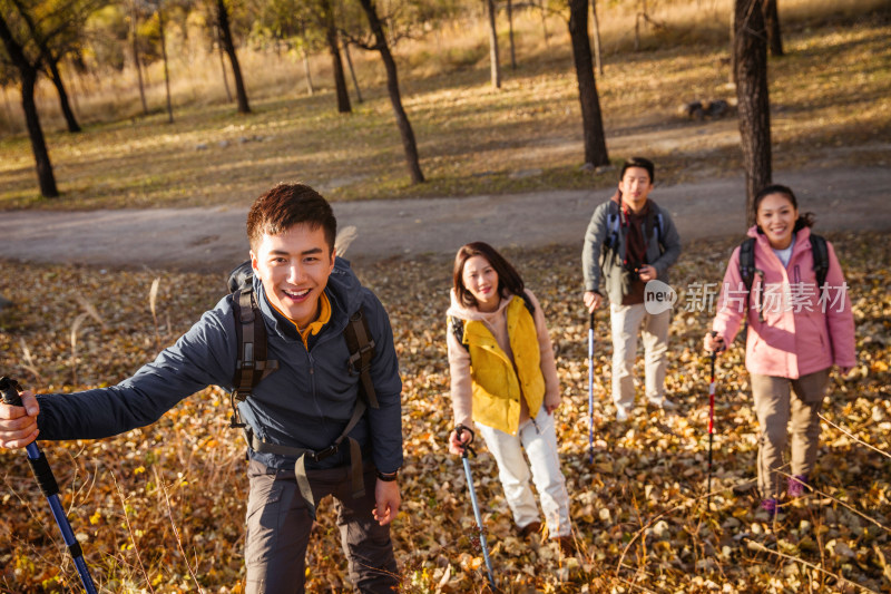
<path fill-rule="evenodd" d="M 319 298 L 334 270 L 334 250 L 322 226 L 301 223 L 277 235 L 264 233 L 251 250 L 251 266 L 270 303 L 303 329 L 319 318 Z"/>

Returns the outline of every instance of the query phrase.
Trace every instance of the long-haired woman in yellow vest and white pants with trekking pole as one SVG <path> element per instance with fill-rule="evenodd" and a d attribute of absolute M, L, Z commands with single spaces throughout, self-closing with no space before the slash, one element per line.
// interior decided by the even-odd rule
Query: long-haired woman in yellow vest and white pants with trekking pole
<path fill-rule="evenodd" d="M 456 425 L 476 423 L 486 440 L 520 535 L 541 530 L 531 478 L 548 536 L 569 553 L 569 495 L 554 428 L 560 386 L 541 305 L 501 254 L 474 242 L 454 259 L 448 319 Z M 469 438 L 461 432 L 461 440 Z M 449 450 L 461 454 L 457 431 L 449 436 Z"/>

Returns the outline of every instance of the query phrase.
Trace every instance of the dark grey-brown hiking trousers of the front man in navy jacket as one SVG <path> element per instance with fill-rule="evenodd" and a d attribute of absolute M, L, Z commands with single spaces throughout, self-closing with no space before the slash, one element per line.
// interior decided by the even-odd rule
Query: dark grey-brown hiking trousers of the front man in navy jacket
<path fill-rule="evenodd" d="M 374 466 L 365 464 L 365 496 L 354 499 L 350 467 L 307 470 L 313 498 L 334 496 L 341 545 L 350 580 L 359 592 L 392 593 L 399 585 L 390 525 L 372 516 Z M 251 461 L 247 476 L 245 564 L 247 594 L 300 594 L 304 591 L 306 545 L 313 520 L 297 488 L 294 470 L 276 470 Z"/>

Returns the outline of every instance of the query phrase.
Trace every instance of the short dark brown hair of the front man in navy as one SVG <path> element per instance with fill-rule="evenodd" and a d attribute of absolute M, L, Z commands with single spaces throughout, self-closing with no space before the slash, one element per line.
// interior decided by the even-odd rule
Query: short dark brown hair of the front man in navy
<path fill-rule="evenodd" d="M 294 225 L 322 227 L 329 253 L 334 250 L 337 220 L 325 198 L 304 184 L 278 184 L 254 201 L 247 213 L 247 241 L 255 250 L 261 237 L 278 235 Z"/>

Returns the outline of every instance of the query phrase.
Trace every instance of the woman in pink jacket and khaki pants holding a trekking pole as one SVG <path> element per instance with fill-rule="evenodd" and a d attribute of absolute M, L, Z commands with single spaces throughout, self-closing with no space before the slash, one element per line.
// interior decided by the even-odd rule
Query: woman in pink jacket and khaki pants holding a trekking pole
<path fill-rule="evenodd" d="M 745 313 L 745 367 L 758 418 L 758 488 L 762 507 L 776 514 L 781 477 L 791 475 L 786 495 L 804 493 L 816 461 L 820 405 L 832 366 L 846 373 L 855 364 L 851 300 L 832 244 L 829 269 L 817 286 L 811 241 L 813 215 L 799 215 L 792 189 L 771 185 L 754 201 L 754 279 L 746 290 L 737 247 L 724 275 L 719 308 L 705 348 L 722 351 L 733 342 Z M 747 311 L 746 311 L 747 310 Z M 792 435 L 791 471 L 783 452 Z"/>

